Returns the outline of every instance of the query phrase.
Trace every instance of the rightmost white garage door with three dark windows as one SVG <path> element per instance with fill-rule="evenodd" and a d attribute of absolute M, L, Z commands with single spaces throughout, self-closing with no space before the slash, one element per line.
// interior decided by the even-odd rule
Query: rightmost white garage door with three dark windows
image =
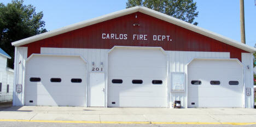
<path fill-rule="evenodd" d="M 234 59 L 188 65 L 188 107 L 243 107 L 243 69 Z"/>

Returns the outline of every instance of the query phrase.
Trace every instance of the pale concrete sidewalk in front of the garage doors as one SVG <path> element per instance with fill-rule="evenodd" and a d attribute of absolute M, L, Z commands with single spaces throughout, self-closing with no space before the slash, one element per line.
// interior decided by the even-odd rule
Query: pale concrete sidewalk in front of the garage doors
<path fill-rule="evenodd" d="M 0 111 L 0 121 L 88 123 L 244 123 L 256 124 L 256 110 L 247 108 L 104 108 L 13 106 Z"/>

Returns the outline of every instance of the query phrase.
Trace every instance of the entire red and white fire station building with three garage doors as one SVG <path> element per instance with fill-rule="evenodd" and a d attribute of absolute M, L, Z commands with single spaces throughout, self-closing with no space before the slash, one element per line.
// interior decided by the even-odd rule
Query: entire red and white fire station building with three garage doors
<path fill-rule="evenodd" d="M 12 45 L 15 106 L 254 106 L 254 47 L 145 7 Z"/>

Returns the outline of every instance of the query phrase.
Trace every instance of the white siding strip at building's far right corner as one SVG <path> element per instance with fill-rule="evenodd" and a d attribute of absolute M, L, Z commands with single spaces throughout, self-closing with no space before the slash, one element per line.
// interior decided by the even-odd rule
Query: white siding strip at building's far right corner
<path fill-rule="evenodd" d="M 254 107 L 254 98 L 253 98 L 253 54 L 252 53 L 242 53 L 242 64 L 244 65 L 245 70 L 245 107 L 253 108 Z M 249 69 L 247 68 L 249 66 Z M 246 95 L 246 88 L 251 88 L 251 96 Z"/>

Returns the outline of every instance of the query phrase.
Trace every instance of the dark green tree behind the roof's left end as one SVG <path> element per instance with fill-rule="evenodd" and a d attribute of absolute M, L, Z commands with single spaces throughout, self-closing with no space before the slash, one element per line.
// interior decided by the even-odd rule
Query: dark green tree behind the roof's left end
<path fill-rule="evenodd" d="M 36 13 L 33 5 L 24 5 L 23 2 L 0 3 L 0 47 L 11 56 L 8 59 L 9 68 L 13 68 L 14 63 L 12 42 L 46 32 L 43 12 Z"/>

